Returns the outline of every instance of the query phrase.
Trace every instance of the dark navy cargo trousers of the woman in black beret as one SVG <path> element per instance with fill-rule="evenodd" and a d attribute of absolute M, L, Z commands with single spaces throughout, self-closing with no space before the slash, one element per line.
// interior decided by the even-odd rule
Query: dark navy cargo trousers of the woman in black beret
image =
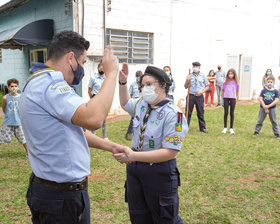
<path fill-rule="evenodd" d="M 132 224 L 181 224 L 176 159 L 127 165 L 125 198 Z"/>

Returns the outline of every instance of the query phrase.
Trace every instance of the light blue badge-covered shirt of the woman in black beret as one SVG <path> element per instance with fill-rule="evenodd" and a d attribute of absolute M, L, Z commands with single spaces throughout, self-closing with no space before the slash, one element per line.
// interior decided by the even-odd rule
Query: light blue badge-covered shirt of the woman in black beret
<path fill-rule="evenodd" d="M 130 99 L 125 110 L 133 118 L 132 147 L 139 150 L 140 128 L 147 111 L 148 104 L 142 99 Z M 181 118 L 178 120 L 178 114 Z M 160 148 L 180 150 L 188 132 L 188 124 L 182 111 L 173 101 L 152 110 L 143 139 L 143 151 L 152 151 Z"/>

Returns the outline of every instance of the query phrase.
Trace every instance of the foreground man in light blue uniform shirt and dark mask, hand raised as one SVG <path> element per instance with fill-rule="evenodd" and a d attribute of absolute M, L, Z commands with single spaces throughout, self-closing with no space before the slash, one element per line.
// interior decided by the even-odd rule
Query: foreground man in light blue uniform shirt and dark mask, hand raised
<path fill-rule="evenodd" d="M 55 35 L 47 62 L 32 64 L 22 92 L 20 118 L 33 171 L 27 192 L 33 223 L 89 224 L 88 146 L 113 153 L 128 150 L 85 131 L 103 124 L 118 72 L 118 60 L 108 47 L 103 94 L 83 102 L 70 85 L 79 84 L 84 76 L 88 47 L 89 42 L 73 31 Z"/>

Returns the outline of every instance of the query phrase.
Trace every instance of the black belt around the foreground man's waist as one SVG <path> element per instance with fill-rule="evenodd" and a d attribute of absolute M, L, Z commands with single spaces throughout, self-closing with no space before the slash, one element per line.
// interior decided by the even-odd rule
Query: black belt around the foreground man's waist
<path fill-rule="evenodd" d="M 82 180 L 79 183 L 75 182 L 66 182 L 66 183 L 57 183 L 54 181 L 50 180 L 45 180 L 40 177 L 36 177 L 33 173 L 33 180 L 37 182 L 38 184 L 41 184 L 45 187 L 50 187 L 54 189 L 62 189 L 66 191 L 78 191 L 78 190 L 83 190 L 88 186 L 88 178 L 86 177 L 84 180 Z"/>

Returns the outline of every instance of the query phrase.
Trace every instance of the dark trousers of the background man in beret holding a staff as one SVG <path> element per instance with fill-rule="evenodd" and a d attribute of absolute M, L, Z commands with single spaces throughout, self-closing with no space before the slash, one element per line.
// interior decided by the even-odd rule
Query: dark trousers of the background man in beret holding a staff
<path fill-rule="evenodd" d="M 186 100 L 187 102 L 187 100 Z M 189 97 L 189 112 L 186 114 L 186 117 L 188 115 L 188 126 L 190 126 L 191 123 L 191 116 L 193 107 L 195 105 L 197 118 L 198 118 L 198 124 L 199 124 L 199 130 L 202 131 L 203 129 L 206 129 L 206 124 L 204 121 L 204 97 L 201 96 L 195 96 L 193 94 L 190 94 Z M 187 111 L 187 105 L 186 105 L 186 111 Z"/>

